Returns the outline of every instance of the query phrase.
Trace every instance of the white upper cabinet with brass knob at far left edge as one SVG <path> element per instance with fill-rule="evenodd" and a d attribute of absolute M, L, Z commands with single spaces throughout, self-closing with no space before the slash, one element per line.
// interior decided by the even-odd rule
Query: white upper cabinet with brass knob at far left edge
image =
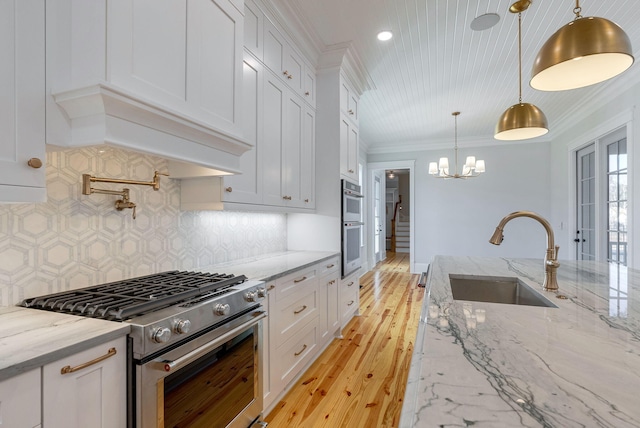
<path fill-rule="evenodd" d="M 0 202 L 44 202 L 45 2 L 0 2 Z"/>

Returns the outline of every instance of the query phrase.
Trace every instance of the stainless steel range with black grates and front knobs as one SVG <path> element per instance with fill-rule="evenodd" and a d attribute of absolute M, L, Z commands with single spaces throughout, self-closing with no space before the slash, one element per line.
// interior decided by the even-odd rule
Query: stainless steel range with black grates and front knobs
<path fill-rule="evenodd" d="M 266 293 L 243 275 L 170 271 L 22 306 L 131 324 L 128 426 L 246 428 L 261 423 Z"/>

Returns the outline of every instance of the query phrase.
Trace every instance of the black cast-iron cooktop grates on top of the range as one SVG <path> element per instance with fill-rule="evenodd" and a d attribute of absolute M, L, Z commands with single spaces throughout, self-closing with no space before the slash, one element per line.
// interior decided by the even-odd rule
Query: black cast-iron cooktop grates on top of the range
<path fill-rule="evenodd" d="M 169 271 L 25 299 L 21 306 L 124 321 L 246 281 L 244 275 Z"/>

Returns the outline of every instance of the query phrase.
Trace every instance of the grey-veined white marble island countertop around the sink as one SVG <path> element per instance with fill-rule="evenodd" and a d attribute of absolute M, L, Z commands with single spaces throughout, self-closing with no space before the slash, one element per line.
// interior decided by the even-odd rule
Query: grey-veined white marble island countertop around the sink
<path fill-rule="evenodd" d="M 454 300 L 449 274 L 517 277 L 557 308 Z M 640 426 L 640 271 L 434 258 L 400 427 Z"/>

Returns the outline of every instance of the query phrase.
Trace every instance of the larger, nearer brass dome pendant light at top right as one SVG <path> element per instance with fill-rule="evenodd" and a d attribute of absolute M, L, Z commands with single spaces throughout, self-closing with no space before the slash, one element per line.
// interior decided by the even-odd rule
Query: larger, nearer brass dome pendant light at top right
<path fill-rule="evenodd" d="M 540 49 L 531 71 L 532 88 L 582 88 L 617 76 L 633 64 L 631 41 L 622 28 L 605 18 L 583 18 L 581 10 L 576 0 L 575 19 Z"/>

